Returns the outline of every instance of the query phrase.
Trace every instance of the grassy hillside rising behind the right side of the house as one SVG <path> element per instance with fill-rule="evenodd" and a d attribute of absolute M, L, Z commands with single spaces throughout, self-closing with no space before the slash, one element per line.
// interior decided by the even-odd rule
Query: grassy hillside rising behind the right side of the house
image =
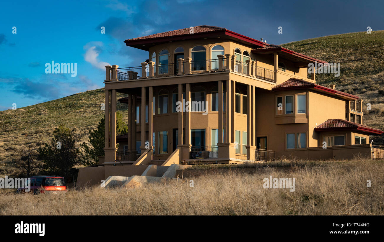
<path fill-rule="evenodd" d="M 340 63 L 340 76 L 317 74 L 316 82 L 335 84 L 336 89 L 352 93 L 371 103 L 364 108 L 363 124 L 384 128 L 384 31 L 338 34 L 306 39 L 283 47 L 328 63 Z"/>

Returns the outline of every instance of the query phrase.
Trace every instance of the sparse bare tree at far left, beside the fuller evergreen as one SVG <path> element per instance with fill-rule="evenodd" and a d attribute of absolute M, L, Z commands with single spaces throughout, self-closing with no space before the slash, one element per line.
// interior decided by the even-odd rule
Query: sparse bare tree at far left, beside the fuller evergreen
<path fill-rule="evenodd" d="M 41 162 L 37 159 L 38 147 L 40 142 L 37 141 L 37 137 L 29 136 L 25 145 L 14 149 L 15 153 L 20 155 L 16 159 L 16 167 L 26 173 L 27 177 L 41 166 Z"/>

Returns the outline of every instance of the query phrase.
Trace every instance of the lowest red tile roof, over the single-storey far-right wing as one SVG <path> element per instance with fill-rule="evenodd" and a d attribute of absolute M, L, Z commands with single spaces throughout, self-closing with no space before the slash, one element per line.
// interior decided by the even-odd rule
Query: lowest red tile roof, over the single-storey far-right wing
<path fill-rule="evenodd" d="M 380 129 L 371 128 L 366 125 L 353 123 L 344 119 L 328 119 L 324 123 L 316 126 L 314 131 L 326 131 L 336 129 L 357 129 L 363 132 L 369 132 L 374 134 L 383 134 L 384 132 Z"/>

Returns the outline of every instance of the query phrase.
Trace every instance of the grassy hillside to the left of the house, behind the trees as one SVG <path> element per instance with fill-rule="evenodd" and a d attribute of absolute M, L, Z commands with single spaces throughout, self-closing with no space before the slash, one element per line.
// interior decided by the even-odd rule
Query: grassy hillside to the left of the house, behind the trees
<path fill-rule="evenodd" d="M 122 96 L 118 93 L 118 98 Z M 104 116 L 100 106 L 104 101 L 104 88 L 101 88 L 17 110 L 1 111 L 0 175 L 16 172 L 12 147 L 25 144 L 27 136 L 37 136 L 41 141 L 48 142 L 53 129 L 65 125 L 74 128 L 74 133 L 82 137 L 82 141 L 88 141 L 88 130 L 96 128 Z M 127 122 L 126 109 L 126 104 L 118 103 L 118 111 L 122 112 L 123 120 Z"/>

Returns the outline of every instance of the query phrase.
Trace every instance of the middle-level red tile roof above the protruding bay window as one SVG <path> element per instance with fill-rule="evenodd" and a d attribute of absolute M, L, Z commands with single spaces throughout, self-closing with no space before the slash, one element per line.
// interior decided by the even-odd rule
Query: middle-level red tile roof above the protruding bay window
<path fill-rule="evenodd" d="M 346 92 L 341 92 L 329 87 L 324 87 L 322 85 L 316 84 L 314 82 L 307 82 L 302 79 L 298 78 L 290 78 L 286 80 L 283 83 L 280 83 L 279 85 L 276 85 L 275 87 L 272 88 L 273 91 L 282 91 L 282 90 L 298 90 L 298 89 L 311 89 L 311 90 L 316 90 L 318 92 L 322 93 L 327 93 L 332 96 L 337 96 L 341 97 L 345 100 L 358 100 L 359 97 L 346 93 Z"/>

